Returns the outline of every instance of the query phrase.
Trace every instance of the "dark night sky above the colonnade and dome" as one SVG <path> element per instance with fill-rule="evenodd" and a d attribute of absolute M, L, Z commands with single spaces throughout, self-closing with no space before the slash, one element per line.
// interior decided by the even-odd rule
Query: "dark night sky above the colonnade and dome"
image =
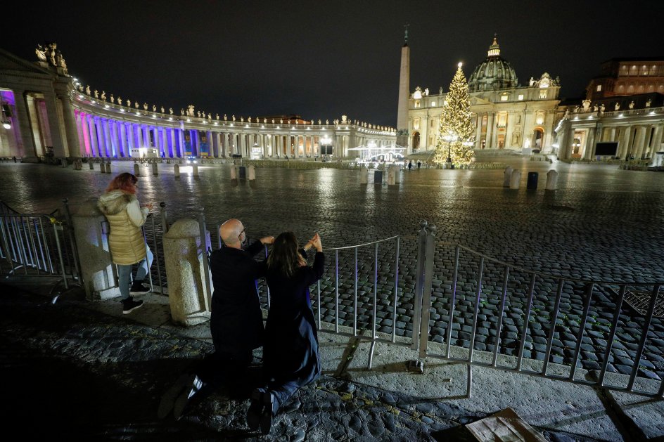
<path fill-rule="evenodd" d="M 622 6 L 618 6 L 622 5 Z M 15 1 L 1 48 L 55 41 L 91 89 L 239 117 L 348 115 L 395 126 L 404 24 L 411 91 L 469 77 L 494 33 L 519 82 L 542 72 L 580 97 L 600 63 L 664 58 L 664 1 Z M 1 86 L 1 85 L 0 85 Z"/>

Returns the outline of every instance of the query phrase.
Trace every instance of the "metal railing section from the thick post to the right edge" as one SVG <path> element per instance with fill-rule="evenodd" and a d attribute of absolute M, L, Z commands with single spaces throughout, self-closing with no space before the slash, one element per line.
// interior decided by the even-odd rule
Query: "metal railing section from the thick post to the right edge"
<path fill-rule="evenodd" d="M 653 316 L 663 282 L 547 275 L 460 245 L 452 275 L 443 274 L 433 266 L 434 252 L 442 253 L 435 227 L 427 230 L 420 356 L 466 362 L 468 396 L 474 365 L 664 397 L 664 324 Z M 643 316 L 623 304 L 634 292 L 649 297 Z M 442 354 L 431 342 L 442 344 Z"/>

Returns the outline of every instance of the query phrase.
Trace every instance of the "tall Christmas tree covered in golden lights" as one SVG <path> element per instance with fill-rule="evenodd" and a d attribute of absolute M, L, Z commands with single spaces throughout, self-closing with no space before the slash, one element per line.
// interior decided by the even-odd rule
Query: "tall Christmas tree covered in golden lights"
<path fill-rule="evenodd" d="M 475 138 L 475 128 L 471 122 L 471 102 L 468 100 L 468 83 L 461 63 L 454 74 L 445 105 L 440 115 L 438 141 L 433 157 L 435 163 L 449 160 L 456 166 L 464 167 L 473 159 L 471 149 Z M 464 145 L 465 144 L 465 145 Z"/>

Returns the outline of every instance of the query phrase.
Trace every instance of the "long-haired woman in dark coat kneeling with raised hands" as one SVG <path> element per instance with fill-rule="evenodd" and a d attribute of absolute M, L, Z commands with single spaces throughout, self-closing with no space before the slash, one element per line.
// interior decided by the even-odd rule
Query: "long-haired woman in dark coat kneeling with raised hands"
<path fill-rule="evenodd" d="M 306 250 L 316 248 L 314 264 L 307 266 Z M 267 257 L 266 280 L 270 308 L 265 325 L 263 368 L 267 388 L 255 389 L 247 414 L 250 429 L 268 434 L 272 417 L 300 387 L 318 379 L 321 363 L 309 286 L 321 278 L 324 254 L 318 234 L 298 250 L 293 232 L 274 240 Z"/>

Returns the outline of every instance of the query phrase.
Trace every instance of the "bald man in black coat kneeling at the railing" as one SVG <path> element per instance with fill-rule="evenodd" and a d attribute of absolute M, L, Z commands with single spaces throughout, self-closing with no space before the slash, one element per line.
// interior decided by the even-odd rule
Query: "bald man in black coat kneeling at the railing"
<path fill-rule="evenodd" d="M 274 242 L 266 236 L 242 249 L 247 242 L 245 227 L 238 219 L 229 219 L 219 228 L 224 245 L 210 256 L 210 271 L 215 292 L 212 294 L 210 332 L 215 353 L 208 355 L 193 372 L 182 375 L 162 397 L 158 417 L 173 410 L 176 419 L 186 405 L 212 394 L 221 384 L 241 386 L 240 379 L 253 360 L 253 349 L 263 344 L 263 316 L 256 280 L 265 275 L 264 261 L 253 256 L 264 245 Z M 250 389 L 250 386 L 248 386 Z"/>

